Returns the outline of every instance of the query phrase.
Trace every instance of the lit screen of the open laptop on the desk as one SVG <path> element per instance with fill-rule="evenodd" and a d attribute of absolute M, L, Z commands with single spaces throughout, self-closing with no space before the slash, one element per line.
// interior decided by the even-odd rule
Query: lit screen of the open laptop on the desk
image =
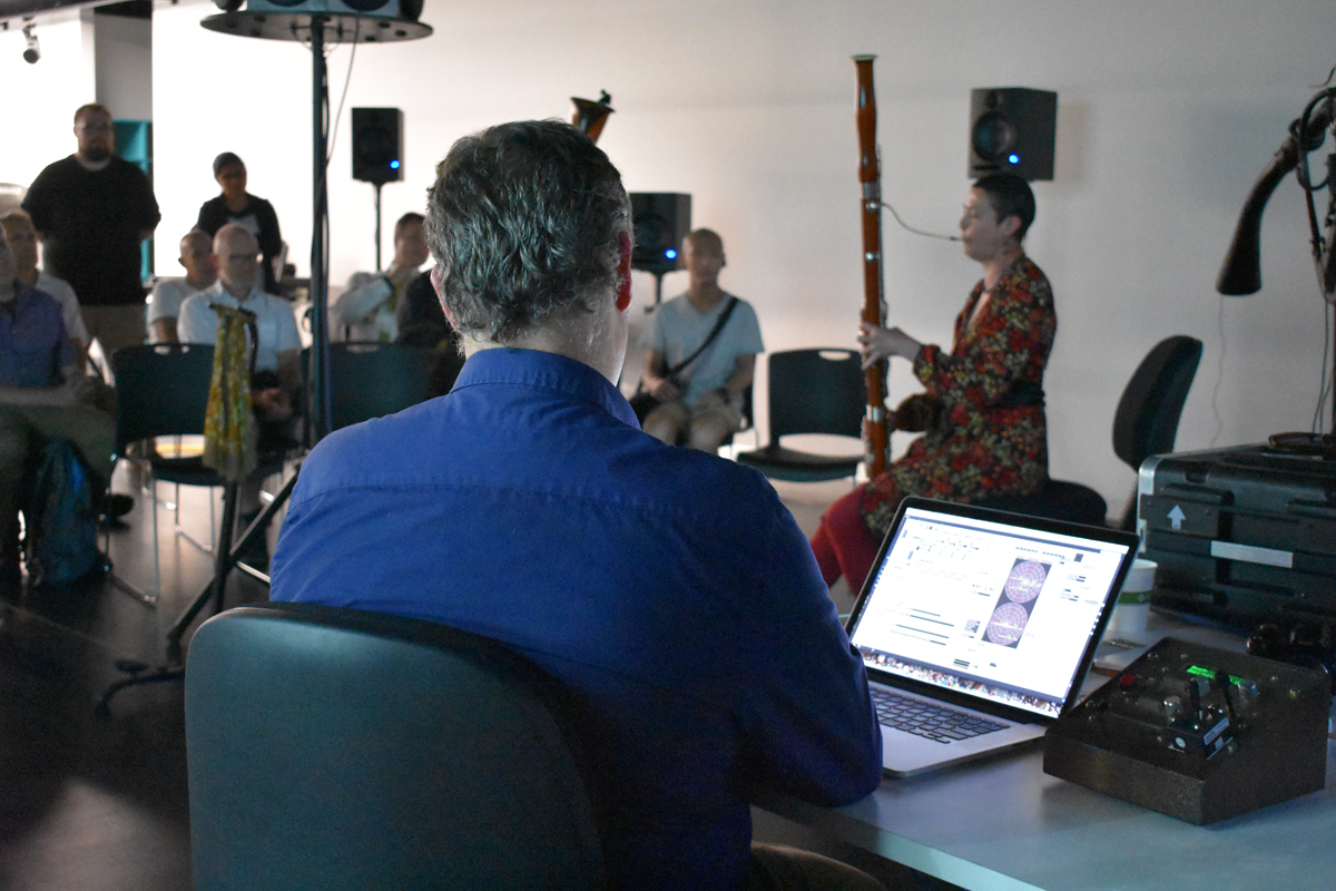
<path fill-rule="evenodd" d="M 1133 550 L 1082 529 L 907 500 L 850 640 L 870 669 L 1057 717 Z"/>

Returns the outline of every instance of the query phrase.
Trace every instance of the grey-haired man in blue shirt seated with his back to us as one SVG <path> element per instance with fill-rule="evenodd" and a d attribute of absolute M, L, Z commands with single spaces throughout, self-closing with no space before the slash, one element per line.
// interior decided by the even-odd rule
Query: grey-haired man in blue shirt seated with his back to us
<path fill-rule="evenodd" d="M 273 598 L 436 620 L 560 679 L 619 888 L 878 887 L 749 848 L 759 791 L 871 792 L 880 731 L 774 489 L 641 433 L 615 386 L 632 247 L 616 168 L 557 122 L 465 138 L 428 240 L 468 362 L 450 394 L 311 452 Z M 811 886 L 776 880 L 795 866 Z"/>

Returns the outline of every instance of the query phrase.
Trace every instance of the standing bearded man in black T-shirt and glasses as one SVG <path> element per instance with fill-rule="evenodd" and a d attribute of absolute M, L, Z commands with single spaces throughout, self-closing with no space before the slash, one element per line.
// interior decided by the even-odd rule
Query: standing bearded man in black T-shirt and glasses
<path fill-rule="evenodd" d="M 41 239 L 43 267 L 75 289 L 84 322 L 104 354 L 144 341 L 139 244 L 162 214 L 148 178 L 114 155 L 111 112 L 75 112 L 73 155 L 43 170 L 23 208 Z"/>

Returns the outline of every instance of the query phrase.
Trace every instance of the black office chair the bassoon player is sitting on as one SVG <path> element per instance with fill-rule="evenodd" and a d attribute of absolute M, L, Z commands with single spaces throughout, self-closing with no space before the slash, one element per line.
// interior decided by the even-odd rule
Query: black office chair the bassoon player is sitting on
<path fill-rule="evenodd" d="M 1156 343 L 1122 390 L 1113 415 L 1113 452 L 1134 472 L 1149 456 L 1173 452 L 1188 390 L 1201 361 L 1201 341 L 1185 335 Z M 981 501 L 983 506 L 1014 513 L 1105 525 L 1109 508 L 1098 492 L 1078 482 L 1049 480 L 1033 496 L 1002 496 Z M 1137 524 L 1137 494 L 1122 513 L 1121 529 Z"/>

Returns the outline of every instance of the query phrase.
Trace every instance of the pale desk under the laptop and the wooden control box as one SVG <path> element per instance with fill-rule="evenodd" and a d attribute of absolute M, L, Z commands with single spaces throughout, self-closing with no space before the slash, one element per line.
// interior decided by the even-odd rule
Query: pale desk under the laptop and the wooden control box
<path fill-rule="evenodd" d="M 1161 635 L 1218 632 L 1153 614 Z M 1102 683 L 1096 679 L 1096 684 Z M 1336 747 L 1327 785 L 1212 826 L 1193 826 L 1043 772 L 1041 748 L 939 773 L 882 780 L 868 797 L 822 808 L 758 806 L 819 836 L 974 891 L 1325 890 L 1336 886 Z"/>

